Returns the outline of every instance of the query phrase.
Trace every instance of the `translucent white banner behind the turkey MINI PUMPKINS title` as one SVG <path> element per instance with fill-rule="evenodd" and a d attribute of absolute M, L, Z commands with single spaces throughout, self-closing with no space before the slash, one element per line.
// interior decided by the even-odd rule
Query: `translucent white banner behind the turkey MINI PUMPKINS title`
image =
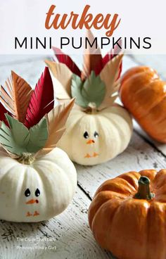
<path fill-rule="evenodd" d="M 68 13 L 71 11 L 81 15 L 84 6 L 91 6 L 90 12 L 114 14 L 118 13 L 121 22 L 113 36 L 119 37 L 151 37 L 152 48 L 145 50 L 133 49 L 134 53 L 164 54 L 166 53 L 165 28 L 165 0 L 102 0 L 102 1 L 75 1 L 75 0 L 0 0 L 0 54 L 49 54 L 49 49 L 14 49 L 14 38 L 24 37 L 52 37 L 53 45 L 59 46 L 60 37 L 84 37 L 85 30 L 72 30 L 69 26 L 66 30 L 46 30 L 46 12 L 51 4 L 56 5 L 56 13 Z M 96 37 L 106 37 L 106 30 L 92 30 Z M 110 46 L 108 46 L 110 49 Z M 70 54 L 80 53 L 70 46 L 65 48 Z"/>

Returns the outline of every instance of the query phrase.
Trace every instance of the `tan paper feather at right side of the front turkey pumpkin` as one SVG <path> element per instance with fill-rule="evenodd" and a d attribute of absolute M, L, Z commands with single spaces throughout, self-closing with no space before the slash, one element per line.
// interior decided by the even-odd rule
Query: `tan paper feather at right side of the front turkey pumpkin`
<path fill-rule="evenodd" d="M 39 151 L 37 156 L 49 153 L 56 147 L 57 142 L 60 137 L 62 137 L 63 132 L 65 132 L 65 122 L 68 119 L 70 110 L 74 106 L 75 99 L 71 99 L 68 103 L 60 104 L 53 108 L 47 115 L 47 125 L 49 130 L 49 138 L 46 141 L 44 148 Z"/>

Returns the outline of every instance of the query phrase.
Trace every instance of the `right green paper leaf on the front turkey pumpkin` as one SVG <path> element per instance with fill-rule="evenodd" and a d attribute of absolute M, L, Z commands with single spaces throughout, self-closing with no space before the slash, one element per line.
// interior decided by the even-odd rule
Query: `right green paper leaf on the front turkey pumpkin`
<path fill-rule="evenodd" d="M 36 153 L 42 149 L 46 144 L 48 136 L 46 118 L 42 118 L 37 125 L 30 128 L 30 141 L 27 145 L 27 151 Z"/>

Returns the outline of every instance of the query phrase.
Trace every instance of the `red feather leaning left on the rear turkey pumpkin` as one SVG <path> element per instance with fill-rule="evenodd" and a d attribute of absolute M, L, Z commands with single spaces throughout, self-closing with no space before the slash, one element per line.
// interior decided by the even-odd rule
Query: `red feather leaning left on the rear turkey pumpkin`
<path fill-rule="evenodd" d="M 67 65 L 67 67 L 75 74 L 81 77 L 81 71 L 77 67 L 74 61 L 72 61 L 72 58 L 70 56 L 65 55 L 60 49 L 56 48 L 55 46 L 52 47 L 53 52 L 56 55 L 56 58 L 58 58 L 58 61 L 60 63 L 63 63 Z"/>

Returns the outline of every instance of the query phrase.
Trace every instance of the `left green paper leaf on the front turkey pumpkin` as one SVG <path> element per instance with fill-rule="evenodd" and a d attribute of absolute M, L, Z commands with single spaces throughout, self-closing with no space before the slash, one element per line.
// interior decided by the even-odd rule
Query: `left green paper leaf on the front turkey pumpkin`
<path fill-rule="evenodd" d="M 20 156 L 27 152 L 26 146 L 29 141 L 29 132 L 23 123 L 18 122 L 10 115 L 6 114 L 10 129 L 2 122 L 0 128 L 0 142 L 11 153 Z"/>

